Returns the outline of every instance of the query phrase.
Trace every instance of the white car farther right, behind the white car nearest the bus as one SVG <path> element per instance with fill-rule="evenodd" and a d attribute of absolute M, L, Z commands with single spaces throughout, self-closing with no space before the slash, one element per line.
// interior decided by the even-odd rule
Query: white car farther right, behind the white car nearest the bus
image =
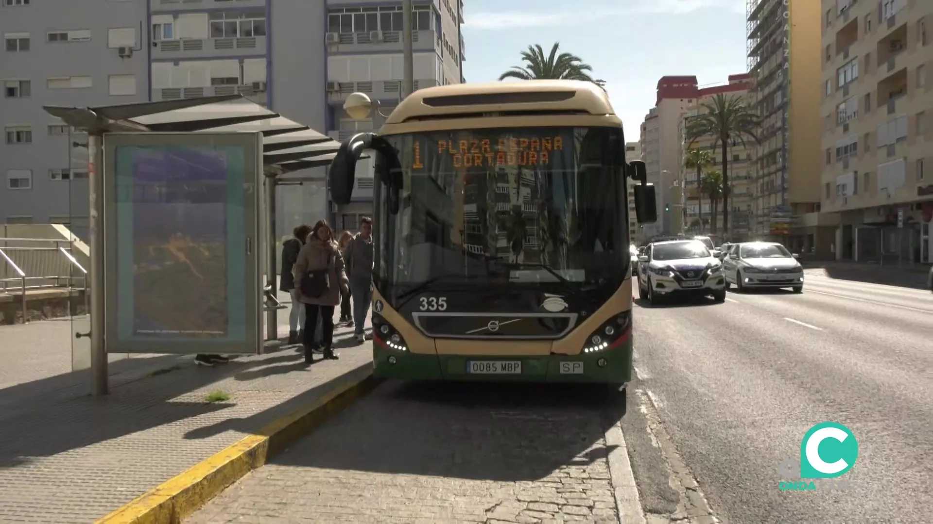
<path fill-rule="evenodd" d="M 726 286 L 740 291 L 753 287 L 789 287 L 803 291 L 803 268 L 787 248 L 777 242 L 732 244 L 722 259 Z"/>

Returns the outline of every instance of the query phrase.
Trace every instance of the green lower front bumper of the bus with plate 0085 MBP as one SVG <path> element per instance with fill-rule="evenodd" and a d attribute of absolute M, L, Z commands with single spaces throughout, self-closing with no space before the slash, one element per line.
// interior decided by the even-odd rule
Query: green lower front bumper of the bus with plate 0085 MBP
<path fill-rule="evenodd" d="M 375 376 L 388 379 L 620 385 L 632 380 L 631 338 L 616 348 L 577 355 L 437 355 L 397 352 L 373 344 L 372 356 Z"/>

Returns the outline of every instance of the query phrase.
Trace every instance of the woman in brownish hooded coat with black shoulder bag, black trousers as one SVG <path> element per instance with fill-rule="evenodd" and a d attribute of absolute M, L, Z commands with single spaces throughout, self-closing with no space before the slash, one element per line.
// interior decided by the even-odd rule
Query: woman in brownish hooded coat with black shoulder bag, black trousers
<path fill-rule="evenodd" d="M 308 276 L 309 271 L 324 269 L 327 269 L 329 281 L 327 291 L 321 296 L 306 296 L 301 281 Z M 343 270 L 343 256 L 327 220 L 314 224 L 308 241 L 301 247 L 293 271 L 299 302 L 304 304 L 304 361 L 307 364 L 313 362 L 318 314 L 321 315 L 321 329 L 324 331 L 321 334 L 323 348 L 319 351 L 324 353 L 324 358 L 336 360 L 338 356 L 333 350 L 334 308 L 341 303 L 341 295 L 346 293 L 348 281 Z"/>

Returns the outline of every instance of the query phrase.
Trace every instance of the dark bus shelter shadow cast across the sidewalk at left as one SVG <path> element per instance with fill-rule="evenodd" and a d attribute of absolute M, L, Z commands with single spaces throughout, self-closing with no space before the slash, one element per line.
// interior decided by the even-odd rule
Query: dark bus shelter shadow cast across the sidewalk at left
<path fill-rule="evenodd" d="M 111 363 L 111 373 L 130 367 L 133 360 L 137 359 Z M 111 392 L 104 397 L 88 393 L 89 370 L 0 390 L 0 399 L 5 399 L 0 405 L 0 427 L 3 428 L 0 468 L 230 407 L 230 404 L 208 403 L 206 399 L 203 402 L 172 399 L 250 367 L 266 365 L 268 361 L 238 362 L 234 359 L 226 365 L 203 368 L 191 364 L 190 356 L 167 355 L 146 360 L 151 363 L 146 365 L 148 372 L 137 369 L 133 379 L 118 383 L 111 376 Z"/>

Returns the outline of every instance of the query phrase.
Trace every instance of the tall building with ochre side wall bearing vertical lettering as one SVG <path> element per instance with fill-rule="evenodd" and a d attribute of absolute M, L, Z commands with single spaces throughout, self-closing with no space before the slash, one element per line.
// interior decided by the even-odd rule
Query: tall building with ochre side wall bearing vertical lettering
<path fill-rule="evenodd" d="M 867 1 L 867 0 L 865 0 Z M 833 218 L 820 210 L 820 2 L 747 0 L 748 71 L 762 119 L 754 158 L 752 231 L 805 257 L 832 249 Z"/>

